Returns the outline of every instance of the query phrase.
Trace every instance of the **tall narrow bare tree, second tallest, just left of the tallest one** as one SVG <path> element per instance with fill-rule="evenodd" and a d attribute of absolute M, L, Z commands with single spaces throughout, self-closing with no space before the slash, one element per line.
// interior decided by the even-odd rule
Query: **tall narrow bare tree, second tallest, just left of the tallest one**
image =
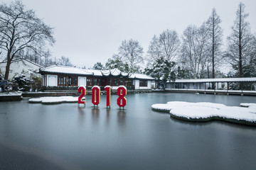
<path fill-rule="evenodd" d="M 206 26 L 208 27 L 208 33 L 210 38 L 210 56 L 211 61 L 210 64 L 212 65 L 212 78 L 215 78 L 215 65 L 216 62 L 220 61 L 221 56 L 221 45 L 222 45 L 222 38 L 223 38 L 223 30 L 220 28 L 220 16 L 217 15 L 215 8 L 211 13 L 210 18 L 206 22 Z M 214 86 L 214 85 L 213 85 Z"/>

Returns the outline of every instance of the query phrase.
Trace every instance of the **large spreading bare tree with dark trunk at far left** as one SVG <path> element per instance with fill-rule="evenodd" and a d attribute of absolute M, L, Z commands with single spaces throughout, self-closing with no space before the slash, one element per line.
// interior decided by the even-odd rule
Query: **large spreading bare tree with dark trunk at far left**
<path fill-rule="evenodd" d="M 0 5 L 0 40 L 1 50 L 6 55 L 4 79 L 8 79 L 11 62 L 19 51 L 31 48 L 37 52 L 37 47 L 55 42 L 53 28 L 37 18 L 34 11 L 26 11 L 21 1 Z"/>

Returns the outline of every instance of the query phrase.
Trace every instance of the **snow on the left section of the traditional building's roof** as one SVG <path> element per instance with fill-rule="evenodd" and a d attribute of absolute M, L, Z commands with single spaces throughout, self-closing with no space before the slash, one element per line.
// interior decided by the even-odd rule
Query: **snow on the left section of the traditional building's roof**
<path fill-rule="evenodd" d="M 67 67 L 67 66 L 51 66 L 40 69 L 39 72 L 48 72 L 48 73 L 62 73 L 62 74 L 82 74 L 82 75 L 92 75 L 93 72 L 90 72 L 89 69 L 79 69 L 77 67 Z"/>

